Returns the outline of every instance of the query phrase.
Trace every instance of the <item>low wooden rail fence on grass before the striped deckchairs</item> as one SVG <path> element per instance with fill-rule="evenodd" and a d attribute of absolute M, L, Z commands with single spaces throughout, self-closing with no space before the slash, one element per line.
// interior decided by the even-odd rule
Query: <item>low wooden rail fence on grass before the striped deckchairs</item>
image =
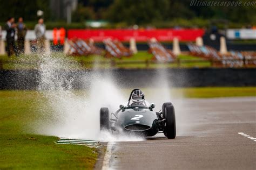
<path fill-rule="evenodd" d="M 180 60 L 159 62 L 154 60 L 107 60 L 107 61 L 84 61 L 77 62 L 69 61 L 70 65 L 79 63 L 82 68 L 92 68 L 98 66 L 99 68 L 161 68 L 161 66 L 170 68 L 193 68 L 193 67 L 218 67 L 218 68 L 256 68 L 256 59 L 226 59 L 226 60 L 212 60 L 212 59 L 193 59 L 193 60 Z M 25 65 L 26 68 L 33 68 L 38 66 L 39 61 L 4 61 L 0 59 L 0 70 L 5 69 L 8 66 L 18 65 L 22 69 Z M 14 68 L 15 69 L 15 68 Z"/>

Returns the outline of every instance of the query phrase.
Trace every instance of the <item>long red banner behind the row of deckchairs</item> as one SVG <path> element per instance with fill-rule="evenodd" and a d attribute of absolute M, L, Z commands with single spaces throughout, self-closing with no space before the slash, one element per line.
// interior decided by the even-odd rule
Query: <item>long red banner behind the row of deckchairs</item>
<path fill-rule="evenodd" d="M 197 37 L 204 35 L 203 29 L 151 29 L 151 30 L 69 30 L 68 38 L 93 39 L 103 41 L 104 39 L 118 39 L 120 41 L 129 41 L 131 38 L 136 41 L 147 41 L 156 38 L 158 41 L 172 41 L 177 37 L 179 41 L 195 41 Z"/>

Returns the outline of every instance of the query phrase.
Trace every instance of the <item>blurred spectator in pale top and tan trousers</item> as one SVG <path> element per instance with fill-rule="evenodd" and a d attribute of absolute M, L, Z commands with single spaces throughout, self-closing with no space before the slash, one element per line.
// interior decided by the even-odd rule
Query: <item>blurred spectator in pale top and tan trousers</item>
<path fill-rule="evenodd" d="M 44 43 L 45 43 L 45 25 L 44 19 L 40 18 L 38 20 L 38 24 L 35 26 L 35 33 L 36 33 L 36 40 L 37 40 L 37 47 L 40 51 L 44 51 Z"/>

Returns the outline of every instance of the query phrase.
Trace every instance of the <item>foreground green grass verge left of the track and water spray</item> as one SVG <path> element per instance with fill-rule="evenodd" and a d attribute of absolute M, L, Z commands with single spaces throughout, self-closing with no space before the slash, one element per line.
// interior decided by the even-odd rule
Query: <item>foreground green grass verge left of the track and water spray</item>
<path fill-rule="evenodd" d="M 38 116 L 35 91 L 0 91 L 0 169 L 93 169 L 97 151 L 81 145 L 59 145 L 57 137 L 32 134 Z"/>

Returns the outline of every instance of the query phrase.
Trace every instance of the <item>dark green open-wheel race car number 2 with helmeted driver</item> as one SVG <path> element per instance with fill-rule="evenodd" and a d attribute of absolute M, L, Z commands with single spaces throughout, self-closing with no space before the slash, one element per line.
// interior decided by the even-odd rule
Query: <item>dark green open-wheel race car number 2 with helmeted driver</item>
<path fill-rule="evenodd" d="M 100 130 L 143 136 L 163 132 L 167 138 L 174 139 L 176 122 L 172 103 L 164 103 L 159 112 L 154 111 L 154 108 L 155 104 L 145 100 L 142 90 L 133 89 L 127 105 L 120 105 L 116 112 L 110 114 L 108 108 L 100 108 Z"/>

